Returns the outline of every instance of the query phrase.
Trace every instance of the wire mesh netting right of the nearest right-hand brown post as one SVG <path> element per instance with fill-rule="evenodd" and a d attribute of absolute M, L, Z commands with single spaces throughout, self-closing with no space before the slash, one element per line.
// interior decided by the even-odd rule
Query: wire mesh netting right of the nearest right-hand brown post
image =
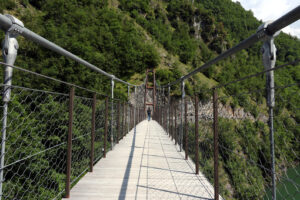
<path fill-rule="evenodd" d="M 266 105 L 265 89 L 219 98 L 219 179 L 224 196 L 274 198 L 270 132 L 272 109 L 276 196 L 277 199 L 300 198 L 299 83 L 274 89 L 274 108 Z M 239 104 L 234 104 L 232 99 L 238 99 Z M 231 191 L 222 187 L 226 182 L 231 182 Z"/>

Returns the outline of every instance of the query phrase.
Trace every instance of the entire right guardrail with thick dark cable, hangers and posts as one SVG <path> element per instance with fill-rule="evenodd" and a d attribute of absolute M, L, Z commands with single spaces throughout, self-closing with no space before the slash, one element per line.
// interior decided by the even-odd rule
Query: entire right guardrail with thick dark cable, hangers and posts
<path fill-rule="evenodd" d="M 213 120 L 213 121 L 207 121 L 205 122 L 205 120 L 198 122 L 198 111 L 197 111 L 197 107 L 198 107 L 198 103 L 195 103 L 195 146 L 196 149 L 193 150 L 193 152 L 196 153 L 196 155 L 193 155 L 195 158 L 195 162 L 196 162 L 196 173 L 198 173 L 199 171 L 199 162 L 200 163 L 205 163 L 205 160 L 203 160 L 205 158 L 205 155 L 200 155 L 200 158 L 203 158 L 202 160 L 198 160 L 199 159 L 199 155 L 198 153 L 198 149 L 199 146 L 201 147 L 201 145 L 206 145 L 207 147 L 211 147 L 210 149 L 214 149 L 214 173 L 209 172 L 206 173 L 207 177 L 214 177 L 214 187 L 215 187 L 215 199 L 219 199 L 219 151 L 222 151 L 221 154 L 226 154 L 225 151 L 232 151 L 232 149 L 225 149 L 222 146 L 220 146 L 220 142 L 219 142 L 219 137 L 218 137 L 218 130 L 220 129 L 219 127 L 219 123 L 218 123 L 218 111 L 222 110 L 222 108 L 220 108 L 220 102 L 218 102 L 218 100 L 220 100 L 220 97 L 218 97 L 218 89 L 219 88 L 225 88 L 231 84 L 234 84 L 236 82 L 240 82 L 243 80 L 249 80 L 250 78 L 253 77 L 257 77 L 259 75 L 266 75 L 266 88 L 263 89 L 267 91 L 267 95 L 266 95 L 266 104 L 268 107 L 268 114 L 265 114 L 265 116 L 267 116 L 267 121 L 268 121 L 268 127 L 269 127 L 269 145 L 270 145 L 270 154 L 269 155 L 263 155 L 263 156 L 270 156 L 271 159 L 270 162 L 268 164 L 270 164 L 271 167 L 266 167 L 263 164 L 260 164 L 259 166 L 256 165 L 256 167 L 263 167 L 264 168 L 264 172 L 267 175 L 270 175 L 270 180 L 271 180 L 271 188 L 272 188 L 272 199 L 276 199 L 276 180 L 280 179 L 281 176 L 281 171 L 279 173 L 276 173 L 276 166 L 275 166 L 275 153 L 280 152 L 280 150 L 278 150 L 278 148 L 275 151 L 276 145 L 274 144 L 274 119 L 276 117 L 274 117 L 274 108 L 276 110 L 276 106 L 275 106 L 275 89 L 277 88 L 274 84 L 274 70 L 277 69 L 282 69 L 284 67 L 286 67 L 287 65 L 290 64 L 296 64 L 299 62 L 299 60 L 293 61 L 292 63 L 288 63 L 286 65 L 283 66 L 278 66 L 275 67 L 275 62 L 276 62 L 276 47 L 274 44 L 274 38 L 278 35 L 279 30 L 288 26 L 289 24 L 297 21 L 300 19 L 300 6 L 297 6 L 295 9 L 293 9 L 292 11 L 288 12 L 287 14 L 285 14 L 284 16 L 280 17 L 279 19 L 275 20 L 274 22 L 267 22 L 263 25 L 261 25 L 257 32 L 253 35 L 251 35 L 249 38 L 245 39 L 244 41 L 240 42 L 239 44 L 237 44 L 236 46 L 232 47 L 231 49 L 225 51 L 224 53 L 220 54 L 219 56 L 217 56 L 216 58 L 208 61 L 207 63 L 205 63 L 204 65 L 202 65 L 201 67 L 193 70 L 192 72 L 182 76 L 181 78 L 168 83 L 166 85 L 162 85 L 159 86 L 157 85 L 158 88 L 158 95 L 162 95 L 163 97 L 157 97 L 157 99 L 168 99 L 167 101 L 160 101 L 158 103 L 158 108 L 157 108 L 157 112 L 155 114 L 155 119 L 160 122 L 160 124 L 162 124 L 165 127 L 165 130 L 171 135 L 172 139 L 175 139 L 175 144 L 179 144 L 179 148 L 180 150 L 182 150 L 184 145 L 184 138 L 183 138 L 183 133 L 187 132 L 187 128 L 184 128 L 184 112 L 186 112 L 186 110 L 184 111 L 184 99 L 185 99 L 185 81 L 188 81 L 188 79 L 190 77 L 192 77 L 193 75 L 195 75 L 196 73 L 207 69 L 209 67 L 212 67 L 212 65 L 216 64 L 217 62 L 228 58 L 229 56 L 245 49 L 248 48 L 250 45 L 258 42 L 258 41 L 263 41 L 263 47 L 262 47 L 262 57 L 263 57 L 263 64 L 265 67 L 265 70 L 258 73 L 258 74 L 254 74 L 254 75 L 250 75 L 247 77 L 242 78 L 241 80 L 235 80 L 233 82 L 227 83 L 227 84 L 223 84 L 223 85 L 219 85 L 215 88 L 213 88 L 213 96 L 211 97 L 211 104 L 209 106 L 211 106 L 210 110 L 212 111 L 211 113 L 213 113 L 213 115 L 209 116 L 208 118 L 204 118 L 206 120 Z M 171 86 L 175 85 L 175 84 L 181 84 L 181 101 L 179 102 L 174 102 L 172 100 L 172 98 L 170 97 L 170 92 L 171 92 Z M 294 85 L 299 85 L 299 83 L 295 83 Z M 286 86 L 282 86 L 282 87 L 289 87 L 290 85 L 286 85 Z M 168 88 L 167 94 L 165 93 L 164 88 Z M 198 93 L 197 91 L 195 93 Z M 262 91 L 260 91 L 260 93 L 262 93 Z M 263 94 L 261 94 L 263 95 Z M 221 99 L 224 100 L 225 97 L 222 97 Z M 195 98 L 194 102 L 197 102 L 197 98 Z M 180 106 L 180 109 L 178 109 L 178 106 Z M 207 105 L 208 106 L 208 105 Z M 295 105 L 297 106 L 297 105 Z M 161 112 L 161 110 L 165 110 L 164 112 Z M 176 114 L 177 112 L 177 114 Z M 293 112 L 296 112 L 295 110 L 293 110 Z M 178 120 L 178 113 L 180 113 L 180 120 Z M 201 113 L 201 111 L 200 111 Z M 281 113 L 276 110 L 275 111 L 276 114 L 280 115 Z M 204 114 L 205 115 L 205 114 Z M 226 118 L 224 116 L 222 116 L 223 118 Z M 255 122 L 257 122 L 257 120 L 253 120 Z M 203 122 L 203 123 L 202 123 Z M 223 123 L 223 119 L 222 119 L 222 123 Z M 187 122 L 185 122 L 187 123 Z M 207 131 L 206 136 L 209 137 L 211 139 L 211 141 L 209 141 L 208 143 L 202 143 L 202 144 L 197 144 L 198 141 L 198 125 L 204 126 L 207 129 L 210 129 L 210 131 Z M 185 125 L 188 126 L 188 125 Z M 177 130 L 178 129 L 178 130 Z M 185 131 L 184 131 L 185 130 Z M 201 130 L 201 128 L 200 128 Z M 214 133 L 214 135 L 209 135 L 209 133 Z M 203 132 L 201 133 L 203 134 Z M 201 135 L 200 134 L 200 135 Z M 187 137 L 187 135 L 185 135 L 185 137 Z M 200 139 L 201 140 L 201 139 Z M 207 138 L 202 138 L 202 140 L 207 140 Z M 291 138 L 292 141 L 294 142 L 299 142 L 296 138 L 296 136 L 294 138 Z M 187 140 L 185 140 L 187 141 Z M 288 142 L 287 142 L 288 143 Z M 214 144 L 214 145 L 212 145 Z M 250 145 L 250 144 L 249 144 Z M 213 147 L 213 148 L 212 148 Z M 186 152 L 189 151 L 189 146 L 185 147 Z M 201 148 L 201 151 L 206 151 L 204 148 Z M 200 151 L 200 152 L 201 152 Z M 293 150 L 292 150 L 293 151 Z M 203 153 L 203 152 L 202 152 Z M 212 158 L 212 152 L 206 152 L 209 154 L 209 158 Z M 205 154 L 205 153 L 204 153 Z M 202 156 L 202 157 L 201 157 Z M 224 157 L 223 157 L 224 159 Z M 299 159 L 297 156 L 295 159 Z M 224 161 L 225 162 L 225 161 Z M 253 164 L 253 160 L 252 159 L 246 159 L 247 163 L 251 163 Z M 205 164 L 204 164 L 205 165 Z M 207 167 L 207 166 L 205 166 Z M 211 166 L 213 167 L 213 166 Z M 278 168 L 278 166 L 277 166 Z M 207 170 L 207 169 L 203 169 L 202 170 Z M 247 173 L 247 172 L 246 172 Z M 264 182 L 264 181 L 263 181 Z M 269 184 L 270 181 L 267 180 L 264 183 Z M 243 184 L 242 182 L 239 182 L 237 184 Z M 244 184 L 258 184 L 258 183 L 244 183 Z M 293 184 L 294 187 L 297 188 L 297 190 L 299 191 L 299 185 Z M 265 186 L 262 187 L 263 190 L 265 190 Z M 257 188 L 259 189 L 259 188 Z M 266 190 L 264 191 L 266 192 Z M 250 193 L 257 193 L 257 191 L 251 191 Z M 224 194 L 224 190 L 223 190 L 223 194 Z M 242 193 L 238 193 L 238 198 L 241 199 L 260 199 L 263 198 L 262 196 L 263 191 L 259 192 L 258 196 L 245 196 Z M 240 196 L 239 196 L 240 195 Z M 244 195 L 244 196 L 243 196 Z M 284 195 L 281 195 L 284 196 Z M 293 195 L 290 195 L 291 197 L 293 197 Z"/>

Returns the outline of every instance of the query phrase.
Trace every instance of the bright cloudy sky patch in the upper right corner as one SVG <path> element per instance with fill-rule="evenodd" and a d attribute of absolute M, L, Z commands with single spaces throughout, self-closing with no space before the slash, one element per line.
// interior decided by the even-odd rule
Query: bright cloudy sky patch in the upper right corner
<path fill-rule="evenodd" d="M 254 16 L 262 21 L 276 20 L 288 11 L 300 5 L 300 0 L 232 0 L 239 1 L 246 10 L 252 10 Z M 300 20 L 283 29 L 285 33 L 300 38 Z"/>

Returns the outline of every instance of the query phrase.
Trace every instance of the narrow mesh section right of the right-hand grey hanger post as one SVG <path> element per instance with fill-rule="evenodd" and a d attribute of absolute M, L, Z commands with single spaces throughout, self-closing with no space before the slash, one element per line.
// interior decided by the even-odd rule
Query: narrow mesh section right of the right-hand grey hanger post
<path fill-rule="evenodd" d="M 299 86 L 298 82 L 275 89 L 274 140 L 278 199 L 300 198 Z M 271 199 L 269 191 L 267 197 Z"/>

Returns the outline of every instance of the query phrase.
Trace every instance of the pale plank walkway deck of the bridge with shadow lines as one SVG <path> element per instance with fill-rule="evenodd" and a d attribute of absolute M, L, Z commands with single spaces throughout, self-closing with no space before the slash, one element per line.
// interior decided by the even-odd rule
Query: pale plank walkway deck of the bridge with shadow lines
<path fill-rule="evenodd" d="M 142 121 L 71 190 L 71 200 L 213 199 L 211 184 L 184 160 L 155 121 Z M 221 198 L 220 198 L 221 199 Z"/>

